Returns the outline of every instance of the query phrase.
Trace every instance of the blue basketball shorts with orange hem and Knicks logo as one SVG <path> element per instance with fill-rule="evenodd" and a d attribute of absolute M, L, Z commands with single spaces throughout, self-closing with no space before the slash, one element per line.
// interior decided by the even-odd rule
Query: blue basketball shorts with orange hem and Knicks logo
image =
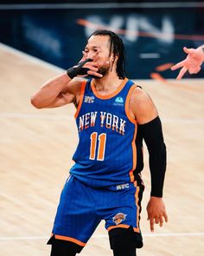
<path fill-rule="evenodd" d="M 52 233 L 79 246 L 86 245 L 101 220 L 108 231 L 133 226 L 140 233 L 142 193 L 137 182 L 92 188 L 71 175 L 61 192 Z"/>

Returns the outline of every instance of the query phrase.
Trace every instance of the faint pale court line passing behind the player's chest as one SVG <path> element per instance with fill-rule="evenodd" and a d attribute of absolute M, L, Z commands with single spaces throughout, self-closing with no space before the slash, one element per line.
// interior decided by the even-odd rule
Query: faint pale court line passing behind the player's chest
<path fill-rule="evenodd" d="M 0 113 L 0 119 L 44 119 L 44 120 L 74 120 L 74 116 L 67 115 L 46 115 L 46 114 L 22 114 L 22 113 Z M 204 118 L 162 118 L 162 121 L 175 123 L 204 123 Z"/>

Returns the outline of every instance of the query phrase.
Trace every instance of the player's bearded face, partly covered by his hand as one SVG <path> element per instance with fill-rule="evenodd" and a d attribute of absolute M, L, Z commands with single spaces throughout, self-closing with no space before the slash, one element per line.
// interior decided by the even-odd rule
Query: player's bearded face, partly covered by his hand
<path fill-rule="evenodd" d="M 84 51 L 86 59 L 91 58 L 97 62 L 98 73 L 106 75 L 109 72 L 111 69 L 109 36 L 91 36 Z"/>

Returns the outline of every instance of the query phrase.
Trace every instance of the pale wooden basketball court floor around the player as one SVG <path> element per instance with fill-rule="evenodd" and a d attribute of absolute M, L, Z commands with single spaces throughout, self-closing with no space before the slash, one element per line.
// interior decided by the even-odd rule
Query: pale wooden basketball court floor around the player
<path fill-rule="evenodd" d="M 35 109 L 29 98 L 59 74 L 45 62 L 0 45 L 0 255 L 46 256 L 54 214 L 67 178 L 77 132 L 73 106 Z M 169 223 L 150 233 L 147 150 L 139 256 L 192 256 L 204 252 L 204 80 L 137 81 L 153 98 L 168 148 L 164 200 Z M 104 222 L 83 256 L 111 256 Z"/>

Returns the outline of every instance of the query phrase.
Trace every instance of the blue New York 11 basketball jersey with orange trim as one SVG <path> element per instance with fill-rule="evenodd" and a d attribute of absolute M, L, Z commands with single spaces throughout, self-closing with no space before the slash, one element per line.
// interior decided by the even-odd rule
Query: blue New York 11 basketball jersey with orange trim
<path fill-rule="evenodd" d="M 112 95 L 99 95 L 92 79 L 82 82 L 75 114 L 80 140 L 70 174 L 90 187 L 134 181 L 137 121 L 129 104 L 136 87 L 125 78 Z"/>

